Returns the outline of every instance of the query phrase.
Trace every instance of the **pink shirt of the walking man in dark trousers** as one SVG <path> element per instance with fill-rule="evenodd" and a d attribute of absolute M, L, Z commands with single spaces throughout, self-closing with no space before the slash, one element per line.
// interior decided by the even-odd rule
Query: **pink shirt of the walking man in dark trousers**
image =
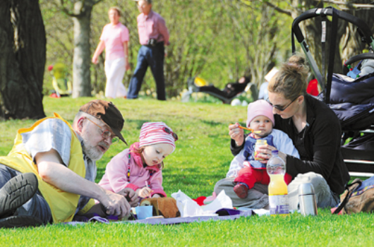
<path fill-rule="evenodd" d="M 165 25 L 165 20 L 158 13 L 150 11 L 147 16 L 140 13 L 138 16 L 138 32 L 140 44 L 147 44 L 148 40 L 156 39 L 157 42 L 164 41 L 169 44 L 169 31 Z"/>

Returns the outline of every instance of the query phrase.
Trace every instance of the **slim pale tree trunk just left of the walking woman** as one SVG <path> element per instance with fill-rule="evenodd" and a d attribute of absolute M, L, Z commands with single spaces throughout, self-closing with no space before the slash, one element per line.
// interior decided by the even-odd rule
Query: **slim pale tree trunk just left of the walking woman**
<path fill-rule="evenodd" d="M 73 98 L 91 96 L 90 78 L 90 20 L 92 6 L 82 2 L 74 5 L 77 16 L 73 16 L 74 23 L 74 57 L 73 57 Z"/>

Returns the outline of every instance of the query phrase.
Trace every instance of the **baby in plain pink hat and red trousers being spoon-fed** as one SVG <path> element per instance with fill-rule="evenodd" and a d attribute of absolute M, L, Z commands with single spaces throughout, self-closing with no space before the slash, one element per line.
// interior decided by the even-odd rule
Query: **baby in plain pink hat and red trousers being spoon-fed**
<path fill-rule="evenodd" d="M 283 131 L 272 128 L 275 125 L 272 106 L 265 100 L 248 104 L 246 125 L 253 131 L 260 131 L 260 133 L 252 132 L 247 136 L 243 150 L 234 157 L 227 173 L 227 177 L 236 176 L 234 192 L 239 198 L 246 198 L 248 190 L 253 188 L 255 183 L 270 183 L 270 177 L 266 172 L 266 164 L 255 160 L 255 143 L 258 139 L 266 140 L 267 145 L 276 147 L 280 152 L 299 157 L 298 151 L 289 136 Z M 291 180 L 291 175 L 285 174 L 284 181 L 289 184 Z"/>

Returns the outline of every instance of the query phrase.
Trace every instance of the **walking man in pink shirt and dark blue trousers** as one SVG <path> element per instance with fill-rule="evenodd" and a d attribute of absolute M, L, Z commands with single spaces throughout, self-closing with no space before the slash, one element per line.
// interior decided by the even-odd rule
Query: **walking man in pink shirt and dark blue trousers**
<path fill-rule="evenodd" d="M 152 0 L 138 1 L 139 41 L 138 64 L 128 86 L 128 99 L 138 98 L 147 67 L 150 66 L 156 81 L 157 100 L 166 100 L 164 82 L 164 45 L 169 44 L 169 32 L 164 18 L 152 11 Z"/>

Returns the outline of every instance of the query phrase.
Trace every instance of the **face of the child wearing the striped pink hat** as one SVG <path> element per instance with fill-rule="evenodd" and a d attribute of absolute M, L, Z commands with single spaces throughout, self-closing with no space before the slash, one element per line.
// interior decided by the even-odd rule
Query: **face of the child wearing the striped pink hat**
<path fill-rule="evenodd" d="M 167 155 L 173 152 L 173 146 L 167 143 L 157 143 L 155 145 L 145 146 L 143 150 L 143 158 L 147 166 L 158 165 Z"/>

